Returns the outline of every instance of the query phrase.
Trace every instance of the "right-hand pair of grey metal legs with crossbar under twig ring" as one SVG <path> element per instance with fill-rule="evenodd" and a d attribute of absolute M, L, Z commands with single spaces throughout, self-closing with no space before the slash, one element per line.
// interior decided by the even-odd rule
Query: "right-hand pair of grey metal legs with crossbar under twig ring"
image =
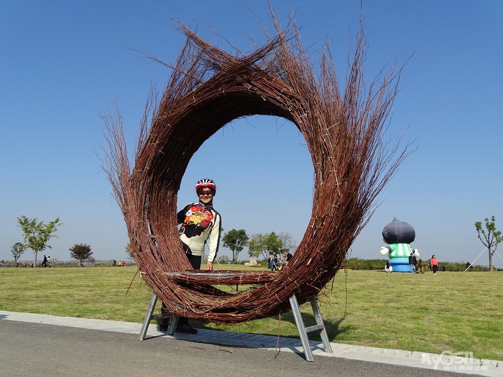
<path fill-rule="evenodd" d="M 331 353 L 332 348 L 330 346 L 330 341 L 328 340 L 328 334 L 326 333 L 325 325 L 321 318 L 316 298 L 312 297 L 310 300 L 314 318 L 316 319 L 316 325 L 309 327 L 305 327 L 304 325 L 304 320 L 302 319 L 302 314 L 300 313 L 299 303 L 297 302 L 295 295 L 290 297 L 289 302 L 292 307 L 293 318 L 295 319 L 295 324 L 297 325 L 297 330 L 299 331 L 300 341 L 302 343 L 302 348 L 304 349 L 306 360 L 314 361 L 311 344 L 309 343 L 309 338 L 307 337 L 307 333 L 311 331 L 319 331 L 325 352 Z"/>

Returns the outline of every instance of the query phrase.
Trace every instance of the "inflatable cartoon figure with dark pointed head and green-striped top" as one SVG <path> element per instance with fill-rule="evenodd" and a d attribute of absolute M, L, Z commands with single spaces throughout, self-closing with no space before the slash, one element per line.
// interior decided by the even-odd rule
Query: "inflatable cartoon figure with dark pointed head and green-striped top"
<path fill-rule="evenodd" d="M 388 254 L 393 272 L 412 272 L 408 257 L 410 253 L 414 253 L 415 257 L 419 256 L 417 249 L 412 249 L 409 245 L 415 239 L 415 230 L 412 225 L 395 217 L 382 230 L 382 237 L 389 246 L 381 247 L 381 255 Z"/>

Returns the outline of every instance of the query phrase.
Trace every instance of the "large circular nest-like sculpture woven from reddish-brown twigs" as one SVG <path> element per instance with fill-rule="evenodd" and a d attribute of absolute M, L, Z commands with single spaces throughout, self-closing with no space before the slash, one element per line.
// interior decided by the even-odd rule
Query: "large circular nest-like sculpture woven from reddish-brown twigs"
<path fill-rule="evenodd" d="M 294 22 L 285 30 L 274 23 L 274 38 L 236 56 L 180 24 L 187 41 L 171 66 L 150 128 L 152 96 L 147 102 L 132 171 L 120 113 L 104 118 L 110 146 L 105 170 L 137 266 L 177 316 L 232 324 L 288 311 L 292 294 L 299 304 L 307 302 L 341 267 L 375 208 L 376 196 L 407 155 L 408 145 L 397 153 L 399 143 L 388 148 L 382 140 L 400 71 L 391 68 L 364 95 L 362 30 L 342 95 L 327 47 L 320 53 L 316 75 Z M 176 217 L 184 172 L 205 140 L 232 120 L 250 115 L 285 118 L 304 136 L 314 166 L 309 226 L 288 266 L 279 272 L 186 273 L 191 266 Z M 228 293 L 219 284 L 248 289 Z"/>

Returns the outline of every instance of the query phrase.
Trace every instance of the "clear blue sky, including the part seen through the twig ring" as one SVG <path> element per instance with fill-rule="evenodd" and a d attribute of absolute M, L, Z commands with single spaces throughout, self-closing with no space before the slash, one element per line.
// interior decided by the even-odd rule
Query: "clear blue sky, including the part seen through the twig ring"
<path fill-rule="evenodd" d="M 306 48 L 319 51 L 323 40 L 331 42 L 344 82 L 360 0 L 272 5 L 282 24 L 296 12 Z M 69 260 L 75 243 L 90 244 L 97 259 L 125 258 L 124 220 L 96 155 L 103 156 L 100 114 L 117 101 L 133 150 L 150 84 L 161 89 L 170 70 L 132 49 L 172 63 L 185 41 L 156 7 L 228 51 L 208 28 L 245 51 L 250 36 L 265 41 L 260 26 L 273 29 L 265 1 L 3 2 L 0 259 L 12 259 L 11 246 L 23 241 L 16 227 L 21 215 L 61 218 L 59 238 L 46 250 L 53 258 Z M 397 217 L 415 228 L 412 246 L 422 257 L 473 261 L 484 248 L 474 222 L 494 215 L 503 229 L 503 2 L 364 0 L 363 18 L 367 82 L 416 49 L 402 74 L 389 133 L 417 139 L 418 149 L 382 192 L 352 256 L 381 258 L 381 231 Z M 214 204 L 225 230 L 289 232 L 301 240 L 313 168 L 294 125 L 250 117 L 219 131 L 192 159 L 179 208 L 196 200 L 194 184 L 203 177 L 217 182 Z M 498 253 L 503 256 L 503 248 Z M 487 264 L 486 254 L 477 264 Z M 32 257 L 27 250 L 21 259 Z M 496 255 L 494 262 L 503 265 Z"/>

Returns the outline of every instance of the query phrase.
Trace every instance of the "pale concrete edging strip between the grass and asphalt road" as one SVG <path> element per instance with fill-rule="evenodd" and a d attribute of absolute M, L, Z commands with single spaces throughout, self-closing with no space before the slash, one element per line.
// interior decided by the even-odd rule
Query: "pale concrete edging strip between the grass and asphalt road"
<path fill-rule="evenodd" d="M 0 320 L 42 323 L 47 325 L 77 327 L 102 331 L 139 334 L 141 323 L 120 322 L 99 319 L 59 317 L 45 314 L 17 313 L 0 311 Z M 233 347 L 259 348 L 280 350 L 285 352 L 303 353 L 300 339 L 274 337 L 220 330 L 199 329 L 198 334 L 167 335 L 150 326 L 147 337 L 163 337 L 166 339 L 183 339 L 199 343 L 227 345 Z M 403 351 L 387 348 L 366 347 L 359 345 L 330 343 L 332 353 L 324 352 L 323 344 L 311 341 L 315 356 L 342 357 L 352 360 L 381 362 L 387 364 L 411 366 L 426 369 L 455 371 L 466 374 L 477 374 L 488 377 L 503 376 L 503 361 L 466 357 L 452 352 L 433 354 L 417 351 Z M 277 346 L 278 345 L 278 346 Z M 464 353 L 463 353 L 464 355 Z M 315 359 L 316 361 L 316 359 Z"/>

